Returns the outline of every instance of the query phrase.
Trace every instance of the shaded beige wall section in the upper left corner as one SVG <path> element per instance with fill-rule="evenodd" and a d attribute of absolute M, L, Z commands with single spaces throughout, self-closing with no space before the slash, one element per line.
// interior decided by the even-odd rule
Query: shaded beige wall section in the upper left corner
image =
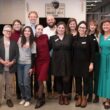
<path fill-rule="evenodd" d="M 14 19 L 25 23 L 25 0 L 0 0 L 0 24 L 11 24 Z"/>

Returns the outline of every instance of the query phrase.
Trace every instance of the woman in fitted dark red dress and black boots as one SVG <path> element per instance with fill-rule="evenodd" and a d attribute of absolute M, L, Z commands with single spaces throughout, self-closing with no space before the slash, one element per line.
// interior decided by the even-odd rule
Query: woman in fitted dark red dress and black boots
<path fill-rule="evenodd" d="M 37 57 L 35 63 L 36 80 L 38 81 L 38 97 L 35 108 L 39 108 L 45 104 L 44 84 L 47 80 L 48 68 L 50 62 L 48 36 L 43 34 L 43 26 L 36 26 Z"/>

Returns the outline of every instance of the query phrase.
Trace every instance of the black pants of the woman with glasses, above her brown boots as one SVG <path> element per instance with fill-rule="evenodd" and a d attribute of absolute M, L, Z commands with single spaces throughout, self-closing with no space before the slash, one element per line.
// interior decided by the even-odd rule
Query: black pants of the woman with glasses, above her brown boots
<path fill-rule="evenodd" d="M 76 93 L 82 96 L 82 92 L 84 92 L 84 96 L 87 96 L 89 89 L 89 78 L 83 77 L 83 86 L 82 86 L 82 77 L 75 77 L 76 81 Z"/>

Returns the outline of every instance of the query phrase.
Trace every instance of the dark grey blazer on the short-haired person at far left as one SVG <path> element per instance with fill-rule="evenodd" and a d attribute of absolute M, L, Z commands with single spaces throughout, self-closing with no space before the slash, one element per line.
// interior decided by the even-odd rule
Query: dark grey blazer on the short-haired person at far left
<path fill-rule="evenodd" d="M 15 60 L 15 64 L 12 65 L 9 68 L 10 73 L 15 73 L 16 72 L 16 67 L 17 67 L 17 60 L 19 56 L 19 49 L 18 45 L 15 41 L 10 40 L 10 47 L 9 47 L 9 60 L 13 61 Z M 0 58 L 5 60 L 5 47 L 4 47 L 4 39 L 0 39 Z M 0 64 L 0 73 L 4 72 L 4 65 Z"/>

